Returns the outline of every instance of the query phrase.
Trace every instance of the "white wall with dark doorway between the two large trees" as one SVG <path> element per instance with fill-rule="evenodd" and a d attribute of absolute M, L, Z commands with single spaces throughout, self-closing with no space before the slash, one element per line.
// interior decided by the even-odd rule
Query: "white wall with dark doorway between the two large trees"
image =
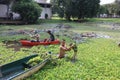
<path fill-rule="evenodd" d="M 40 19 L 45 19 L 45 14 L 48 14 L 48 18 L 47 19 L 51 19 L 51 17 L 52 17 L 52 10 L 51 10 L 51 8 L 42 8 Z"/>

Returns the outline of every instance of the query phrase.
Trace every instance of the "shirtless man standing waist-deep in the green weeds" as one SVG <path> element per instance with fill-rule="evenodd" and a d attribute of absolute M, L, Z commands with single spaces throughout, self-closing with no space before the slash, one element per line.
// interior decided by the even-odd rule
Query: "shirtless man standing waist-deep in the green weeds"
<path fill-rule="evenodd" d="M 63 39 L 60 45 L 60 52 L 58 58 L 64 58 L 65 52 L 70 51 L 72 49 L 73 45 L 71 45 L 69 48 L 66 47 L 65 40 Z"/>

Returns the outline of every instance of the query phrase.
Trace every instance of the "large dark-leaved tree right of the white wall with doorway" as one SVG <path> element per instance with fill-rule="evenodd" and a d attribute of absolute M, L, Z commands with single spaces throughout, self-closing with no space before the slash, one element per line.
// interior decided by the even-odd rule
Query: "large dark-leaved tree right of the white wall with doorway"
<path fill-rule="evenodd" d="M 54 0 L 55 1 L 55 0 Z M 99 10 L 100 0 L 56 0 L 57 6 L 63 10 L 67 20 L 71 18 L 91 18 L 96 16 Z M 58 14 L 61 11 L 58 11 Z"/>

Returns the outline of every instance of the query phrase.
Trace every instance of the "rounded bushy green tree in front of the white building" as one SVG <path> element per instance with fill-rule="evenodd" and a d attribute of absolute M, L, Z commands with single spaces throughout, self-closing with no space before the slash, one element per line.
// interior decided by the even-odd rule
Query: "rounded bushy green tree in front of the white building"
<path fill-rule="evenodd" d="M 19 13 L 21 19 L 27 23 L 35 23 L 41 13 L 40 6 L 32 0 L 17 1 L 12 10 Z"/>

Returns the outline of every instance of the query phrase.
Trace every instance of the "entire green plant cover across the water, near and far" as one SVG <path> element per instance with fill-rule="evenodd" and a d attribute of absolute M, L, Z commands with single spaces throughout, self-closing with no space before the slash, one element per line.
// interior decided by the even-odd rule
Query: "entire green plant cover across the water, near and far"
<path fill-rule="evenodd" d="M 48 21 L 48 20 L 47 20 Z M 71 62 L 73 51 L 67 52 L 67 57 L 63 59 L 56 59 L 54 62 L 49 62 L 40 71 L 33 74 L 25 80 L 119 80 L 120 79 L 120 47 L 117 46 L 116 38 L 119 41 L 119 30 L 112 30 L 111 24 L 119 23 L 120 19 L 112 18 L 94 18 L 90 22 L 75 23 L 75 22 L 57 22 L 55 20 L 49 23 L 40 25 L 1 25 L 1 32 L 7 31 L 10 28 L 18 29 L 50 29 L 55 27 L 58 23 L 69 24 L 70 29 L 74 32 L 96 32 L 108 34 L 111 39 L 91 38 L 86 42 L 77 44 L 78 53 L 75 63 Z M 61 21 L 61 20 L 60 20 Z M 54 23 L 55 22 L 55 23 Z M 103 23 L 104 22 L 104 23 Z M 106 24 L 105 24 L 106 22 Z M 110 23 L 110 24 L 109 24 Z M 19 35 L 21 36 L 21 35 Z M 43 35 L 41 35 L 43 36 Z M 9 36 L 10 39 L 12 36 Z M 17 38 L 18 36 L 16 36 Z M 22 37 L 22 36 L 21 36 Z M 15 39 L 16 39 L 15 38 Z M 65 38 L 61 37 L 60 39 Z M 2 39 L 5 39 L 2 38 Z M 13 39 L 13 38 L 11 38 Z M 66 39 L 66 38 L 65 38 Z M 1 37 L 0 37 L 1 40 Z M 69 38 L 66 39 L 67 43 Z M 33 53 L 39 55 L 46 52 L 52 52 L 53 58 L 56 58 L 59 53 L 59 45 L 50 46 L 34 46 L 32 48 L 22 48 L 20 51 L 13 51 L 13 49 L 6 48 L 0 43 L 0 65 L 23 58 Z M 38 60 L 39 61 L 39 60 Z M 56 63 L 56 64 L 55 64 Z M 35 64 L 33 64 L 35 65 Z"/>

